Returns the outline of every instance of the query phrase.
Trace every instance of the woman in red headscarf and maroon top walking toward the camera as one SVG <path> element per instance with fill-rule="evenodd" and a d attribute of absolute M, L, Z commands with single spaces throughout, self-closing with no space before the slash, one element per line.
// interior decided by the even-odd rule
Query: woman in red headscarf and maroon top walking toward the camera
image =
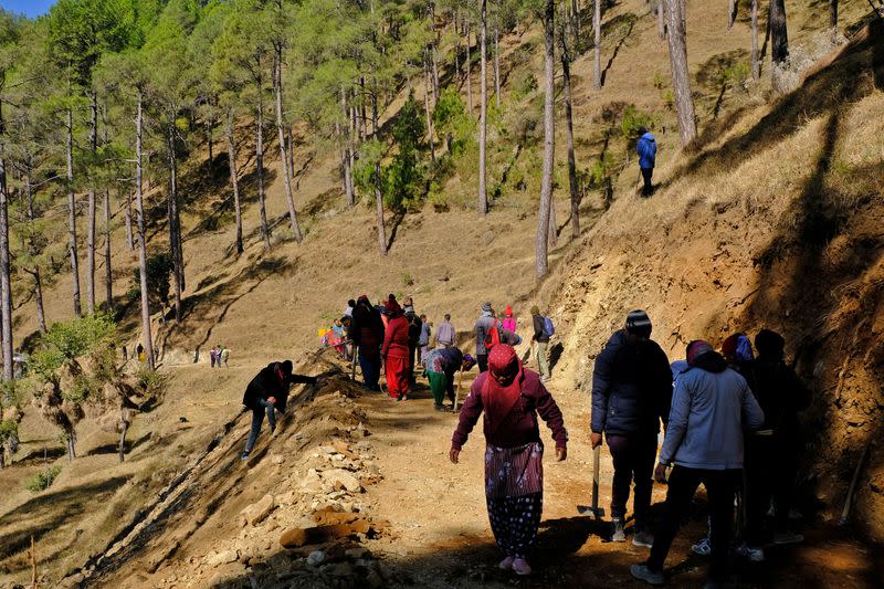
<path fill-rule="evenodd" d="M 494 539 L 504 554 L 499 567 L 529 575 L 526 558 L 544 507 L 544 444 L 537 413 L 552 430 L 558 461 L 568 455 L 568 432 L 540 377 L 522 366 L 512 346 L 494 346 L 488 368 L 473 382 L 464 401 L 449 457 L 457 464 L 461 449 L 484 411 L 485 498 Z"/>

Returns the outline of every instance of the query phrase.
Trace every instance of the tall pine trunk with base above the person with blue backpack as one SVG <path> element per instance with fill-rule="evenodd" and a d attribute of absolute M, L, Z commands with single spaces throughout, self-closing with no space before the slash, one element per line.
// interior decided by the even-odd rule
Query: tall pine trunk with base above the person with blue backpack
<path fill-rule="evenodd" d="M 555 64 L 555 0 L 544 0 L 544 166 L 540 177 L 540 210 L 537 219 L 537 239 L 535 243 L 535 275 L 543 278 L 549 272 L 547 257 L 547 239 L 549 235 L 549 218 L 552 206 L 552 159 L 556 155 L 556 64 Z"/>

